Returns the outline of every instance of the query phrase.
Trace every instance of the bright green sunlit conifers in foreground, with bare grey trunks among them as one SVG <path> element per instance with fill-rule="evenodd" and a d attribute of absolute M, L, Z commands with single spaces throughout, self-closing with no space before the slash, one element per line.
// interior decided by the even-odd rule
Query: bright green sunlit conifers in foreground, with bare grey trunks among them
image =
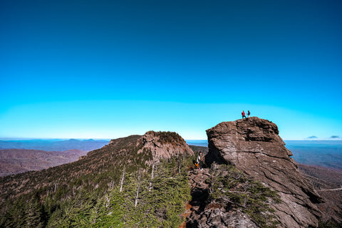
<path fill-rule="evenodd" d="M 123 192 L 115 187 L 97 202 L 96 196 L 80 195 L 64 205 L 64 211 L 58 213 L 61 219 L 53 219 L 48 227 L 178 227 L 190 199 L 187 172 L 177 173 L 176 160 L 164 161 L 155 169 L 152 180 L 143 170 L 128 173 Z"/>

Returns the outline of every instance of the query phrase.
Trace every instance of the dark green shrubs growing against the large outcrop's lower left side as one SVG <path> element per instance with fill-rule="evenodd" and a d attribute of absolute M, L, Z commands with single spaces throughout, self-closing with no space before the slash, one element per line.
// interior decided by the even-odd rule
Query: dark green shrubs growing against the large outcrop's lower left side
<path fill-rule="evenodd" d="M 220 165 L 217 170 L 212 170 L 212 175 L 216 177 L 211 180 L 212 199 L 231 202 L 242 208 L 260 227 L 276 227 L 278 222 L 270 203 L 279 203 L 281 199 L 275 191 L 245 177 L 229 165 Z"/>

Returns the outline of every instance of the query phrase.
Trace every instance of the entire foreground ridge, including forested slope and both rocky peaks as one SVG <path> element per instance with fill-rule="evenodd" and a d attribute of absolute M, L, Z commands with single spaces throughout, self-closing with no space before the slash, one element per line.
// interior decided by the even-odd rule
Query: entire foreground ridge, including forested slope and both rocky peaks
<path fill-rule="evenodd" d="M 110 140 L 76 162 L 0 177 L 0 227 L 319 227 L 323 200 L 278 134 L 247 118 L 208 129 L 209 152 L 170 132 Z M 207 153 L 203 171 L 192 148 Z"/>

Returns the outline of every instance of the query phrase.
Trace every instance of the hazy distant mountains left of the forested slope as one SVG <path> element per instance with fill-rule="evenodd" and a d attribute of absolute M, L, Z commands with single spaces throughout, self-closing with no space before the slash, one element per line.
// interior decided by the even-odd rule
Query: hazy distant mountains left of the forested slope
<path fill-rule="evenodd" d="M 74 162 L 109 140 L 0 140 L 0 177 Z"/>

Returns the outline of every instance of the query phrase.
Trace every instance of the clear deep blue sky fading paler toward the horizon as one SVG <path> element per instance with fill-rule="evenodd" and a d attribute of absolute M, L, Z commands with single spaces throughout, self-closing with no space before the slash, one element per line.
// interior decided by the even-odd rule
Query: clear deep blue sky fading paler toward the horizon
<path fill-rule="evenodd" d="M 0 138 L 342 138 L 342 1 L 0 1 L 0 50 Z"/>

